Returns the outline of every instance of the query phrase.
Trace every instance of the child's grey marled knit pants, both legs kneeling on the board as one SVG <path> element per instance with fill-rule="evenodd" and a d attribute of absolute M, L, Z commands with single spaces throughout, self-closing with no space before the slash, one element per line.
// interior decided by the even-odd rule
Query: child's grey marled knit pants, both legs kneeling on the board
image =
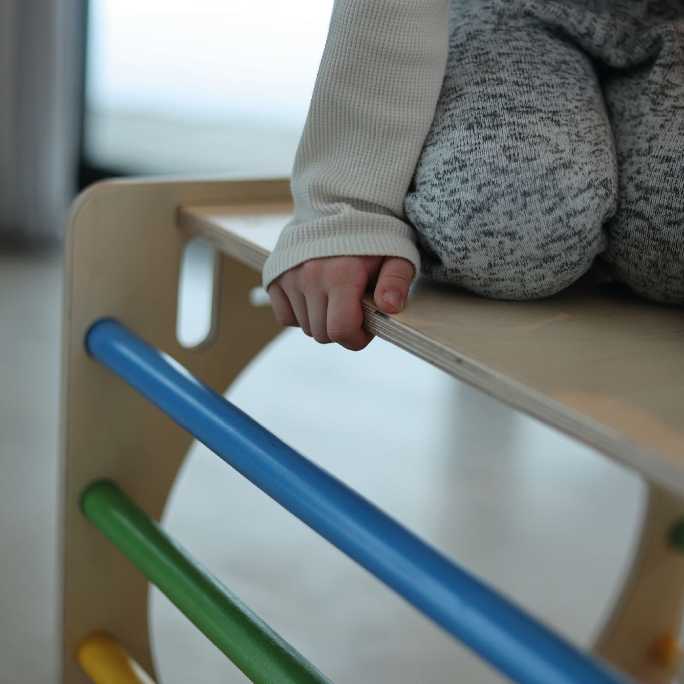
<path fill-rule="evenodd" d="M 600 261 L 684 305 L 684 8 L 453 0 L 432 128 L 404 203 L 422 272 L 503 299 Z"/>

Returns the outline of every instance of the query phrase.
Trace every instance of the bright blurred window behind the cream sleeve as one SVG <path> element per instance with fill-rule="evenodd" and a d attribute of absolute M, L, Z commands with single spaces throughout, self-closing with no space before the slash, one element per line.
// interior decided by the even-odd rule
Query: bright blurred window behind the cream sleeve
<path fill-rule="evenodd" d="M 90 0 L 86 163 L 289 175 L 331 10 L 332 0 Z"/>

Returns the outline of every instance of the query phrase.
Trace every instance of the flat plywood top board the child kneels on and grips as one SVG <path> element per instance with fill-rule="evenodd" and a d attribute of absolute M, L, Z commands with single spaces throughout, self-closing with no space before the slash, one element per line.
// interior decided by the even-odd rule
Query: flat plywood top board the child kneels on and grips
<path fill-rule="evenodd" d="M 181 224 L 260 268 L 287 205 L 184 207 Z M 364 300 L 365 327 L 684 495 L 684 310 L 592 275 L 508 302 L 419 281 L 400 314 Z"/>

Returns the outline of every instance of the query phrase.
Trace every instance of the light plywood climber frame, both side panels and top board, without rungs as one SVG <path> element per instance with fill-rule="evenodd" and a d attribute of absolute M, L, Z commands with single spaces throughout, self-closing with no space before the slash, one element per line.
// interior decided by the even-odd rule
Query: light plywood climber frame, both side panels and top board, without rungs
<path fill-rule="evenodd" d="M 269 308 L 249 300 L 291 210 L 285 179 L 109 182 L 75 203 L 64 286 L 64 682 L 86 684 L 75 654 L 93 631 L 117 637 L 154 672 L 146 580 L 81 515 L 79 497 L 92 479 L 111 477 L 158 518 L 191 442 L 90 359 L 83 337 L 99 317 L 118 317 L 224 391 L 280 330 Z M 214 328 L 188 350 L 176 340 L 176 298 L 193 235 L 225 256 Z M 679 629 L 684 594 L 683 560 L 666 544 L 684 514 L 683 313 L 591 282 L 538 302 L 419 283 L 400 315 L 376 311 L 369 297 L 363 306 L 369 330 L 650 481 L 633 572 L 596 650 L 644 684 L 667 684 L 670 673 L 653 665 L 648 646 Z"/>

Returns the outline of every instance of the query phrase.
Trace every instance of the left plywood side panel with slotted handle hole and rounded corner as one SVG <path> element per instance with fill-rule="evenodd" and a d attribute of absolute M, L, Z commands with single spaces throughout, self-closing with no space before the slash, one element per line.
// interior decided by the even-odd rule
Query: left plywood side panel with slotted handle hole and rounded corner
<path fill-rule="evenodd" d="M 110 477 L 159 518 L 191 438 L 88 357 L 83 339 L 100 317 L 116 317 L 168 352 L 217 391 L 280 330 L 269 308 L 248 295 L 259 272 L 220 259 L 213 337 L 195 350 L 176 340 L 181 205 L 290 202 L 289 182 L 111 181 L 79 197 L 69 219 L 62 366 L 62 681 L 86 684 L 79 640 L 114 635 L 153 672 L 148 644 L 147 582 L 86 521 L 79 497 L 93 479 Z"/>

